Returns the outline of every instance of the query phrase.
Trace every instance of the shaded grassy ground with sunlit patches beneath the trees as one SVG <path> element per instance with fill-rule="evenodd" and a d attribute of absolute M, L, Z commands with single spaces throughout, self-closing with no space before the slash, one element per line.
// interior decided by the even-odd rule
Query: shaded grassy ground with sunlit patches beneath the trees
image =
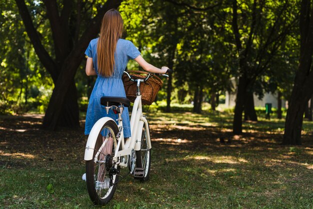
<path fill-rule="evenodd" d="M 122 180 L 107 208 L 313 208 L 313 123 L 282 146 L 284 121 L 231 113 L 150 113 L 150 180 Z M 40 129 L 42 115 L 0 116 L 0 208 L 90 208 L 83 128 Z M 83 127 L 83 121 L 81 121 Z M 49 185 L 47 187 L 47 185 Z"/>

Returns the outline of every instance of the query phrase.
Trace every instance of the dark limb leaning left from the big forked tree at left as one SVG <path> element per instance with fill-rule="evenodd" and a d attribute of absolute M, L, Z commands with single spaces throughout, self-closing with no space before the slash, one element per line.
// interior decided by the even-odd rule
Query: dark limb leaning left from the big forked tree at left
<path fill-rule="evenodd" d="M 57 72 L 55 71 L 55 63 L 50 57 L 50 55 L 48 54 L 48 52 L 45 50 L 43 45 L 41 44 L 38 32 L 33 26 L 27 6 L 24 0 L 15 0 L 15 2 L 18 7 L 19 14 L 23 20 L 27 35 L 33 45 L 33 48 L 35 49 L 35 52 L 39 60 L 43 64 L 43 66 L 50 73 L 53 79 L 53 82 L 55 82 L 57 79 Z"/>

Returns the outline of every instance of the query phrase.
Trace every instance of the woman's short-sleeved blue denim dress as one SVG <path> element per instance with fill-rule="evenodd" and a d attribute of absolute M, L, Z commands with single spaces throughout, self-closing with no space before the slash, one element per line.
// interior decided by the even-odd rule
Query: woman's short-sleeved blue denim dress
<path fill-rule="evenodd" d="M 114 114 L 112 111 L 109 111 L 108 114 L 106 114 L 104 106 L 100 104 L 100 98 L 101 96 L 126 97 L 121 76 L 126 68 L 128 60 L 134 59 L 140 54 L 131 41 L 121 38 L 118 39 L 114 53 L 115 66 L 113 75 L 110 77 L 103 77 L 98 74 L 96 54 L 97 42 L 98 38 L 92 39 L 85 51 L 85 54 L 92 58 L 93 67 L 97 73 L 97 78 L 89 98 L 86 112 L 85 134 L 90 133 L 93 124 L 101 117 L 109 116 L 116 121 L 118 117 L 117 114 Z M 122 118 L 124 137 L 130 137 L 130 121 L 127 107 L 125 107 L 122 112 Z"/>

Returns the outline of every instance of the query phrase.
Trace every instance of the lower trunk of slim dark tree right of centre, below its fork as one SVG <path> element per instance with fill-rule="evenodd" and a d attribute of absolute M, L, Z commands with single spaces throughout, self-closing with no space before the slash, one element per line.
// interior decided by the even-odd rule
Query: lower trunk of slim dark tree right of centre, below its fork
<path fill-rule="evenodd" d="M 236 92 L 236 105 L 234 109 L 232 132 L 233 134 L 242 133 L 242 112 L 244 107 L 244 96 L 246 89 L 246 79 L 244 77 L 239 77 L 239 82 Z"/>

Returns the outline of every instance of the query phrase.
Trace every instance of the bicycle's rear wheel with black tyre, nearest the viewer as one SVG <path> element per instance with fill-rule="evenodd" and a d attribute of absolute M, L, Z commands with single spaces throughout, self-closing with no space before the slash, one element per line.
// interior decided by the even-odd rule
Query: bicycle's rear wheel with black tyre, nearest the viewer
<path fill-rule="evenodd" d="M 98 133 L 93 157 L 86 161 L 86 184 L 91 201 L 103 205 L 112 199 L 118 181 L 119 166 L 114 164 L 118 127 L 107 121 Z"/>

